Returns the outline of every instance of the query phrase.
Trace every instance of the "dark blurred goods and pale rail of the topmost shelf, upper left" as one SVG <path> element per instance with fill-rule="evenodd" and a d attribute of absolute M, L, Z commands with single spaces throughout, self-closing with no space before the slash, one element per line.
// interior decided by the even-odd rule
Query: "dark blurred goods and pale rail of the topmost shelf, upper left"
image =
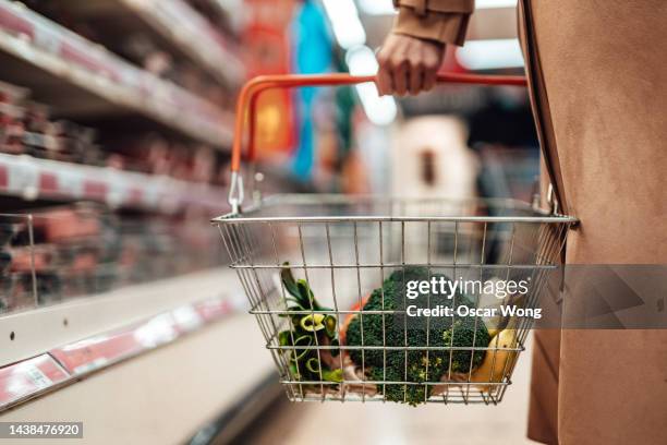
<path fill-rule="evenodd" d="M 229 37 L 184 0 L 108 0 L 98 9 L 66 2 L 28 1 L 27 4 L 199 97 L 210 98 L 213 93 L 229 101 L 233 96 L 226 93 L 223 84 L 234 85 L 242 80 L 243 67 Z M 108 8 L 116 8 L 117 13 L 105 14 Z M 142 23 L 147 27 L 134 25 Z M 169 29 L 172 23 L 179 24 L 179 33 Z"/>

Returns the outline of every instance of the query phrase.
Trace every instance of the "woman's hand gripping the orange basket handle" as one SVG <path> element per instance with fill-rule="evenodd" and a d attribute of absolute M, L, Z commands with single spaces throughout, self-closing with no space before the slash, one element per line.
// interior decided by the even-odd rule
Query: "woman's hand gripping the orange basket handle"
<path fill-rule="evenodd" d="M 390 34 L 377 53 L 380 95 L 404 96 L 432 89 L 445 58 L 445 44 L 401 34 Z"/>

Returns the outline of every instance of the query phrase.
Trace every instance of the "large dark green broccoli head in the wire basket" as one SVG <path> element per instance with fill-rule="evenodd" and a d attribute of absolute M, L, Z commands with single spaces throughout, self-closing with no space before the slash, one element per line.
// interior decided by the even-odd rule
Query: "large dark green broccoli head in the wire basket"
<path fill-rule="evenodd" d="M 442 275 L 434 274 L 435 277 Z M 362 311 L 402 311 L 404 309 L 404 282 L 410 280 L 427 280 L 428 269 L 424 267 L 408 266 L 393 272 L 383 284 L 375 289 Z M 448 279 L 447 277 L 445 277 Z M 383 299 L 384 296 L 384 299 Z M 383 304 L 384 300 L 384 304 Z M 420 294 L 410 301 L 421 308 L 435 308 L 437 304 L 452 306 L 465 304 L 472 306 L 471 300 L 457 294 L 448 299 L 441 294 Z M 428 303 L 428 304 L 427 304 Z M 430 320 L 428 328 L 425 317 L 407 320 L 404 314 L 366 314 L 356 315 L 347 329 L 348 346 L 374 347 L 448 347 L 451 345 L 451 324 L 449 317 Z M 363 325 L 363 329 L 362 329 Z M 453 322 L 453 346 L 472 346 L 475 335 L 474 317 L 456 317 Z M 362 341 L 363 334 L 363 341 Z M 477 320 L 475 345 L 486 346 L 489 335 L 482 320 Z M 400 350 L 400 349 L 350 349 L 350 358 L 357 365 L 364 366 L 368 378 L 373 381 L 425 383 L 438 382 L 448 371 L 450 351 L 447 350 Z M 470 371 L 471 351 L 454 350 L 451 352 L 452 371 Z M 473 368 L 482 362 L 484 352 L 474 354 Z M 417 405 L 424 402 L 433 392 L 434 385 L 386 384 L 380 389 L 385 398 L 391 401 Z"/>

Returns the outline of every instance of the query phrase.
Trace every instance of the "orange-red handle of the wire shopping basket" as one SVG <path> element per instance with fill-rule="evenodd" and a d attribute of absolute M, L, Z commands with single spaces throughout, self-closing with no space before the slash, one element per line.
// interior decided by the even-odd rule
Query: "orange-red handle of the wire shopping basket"
<path fill-rule="evenodd" d="M 262 92 L 271 88 L 295 88 L 303 86 L 336 86 L 354 85 L 366 82 L 375 82 L 375 75 L 350 75 L 344 73 L 335 74 L 277 74 L 260 75 L 250 80 L 243 85 L 237 101 L 237 116 L 234 122 L 234 139 L 231 153 L 231 182 L 229 188 L 229 204 L 232 212 L 237 213 L 243 203 L 243 180 L 241 170 L 241 152 L 245 135 L 245 116 L 247 112 L 247 160 L 254 165 L 255 160 L 255 124 L 257 113 L 257 99 Z M 473 85 L 510 85 L 526 86 L 525 76 L 522 75 L 478 75 L 442 73 L 438 74 L 437 83 L 458 83 Z"/>

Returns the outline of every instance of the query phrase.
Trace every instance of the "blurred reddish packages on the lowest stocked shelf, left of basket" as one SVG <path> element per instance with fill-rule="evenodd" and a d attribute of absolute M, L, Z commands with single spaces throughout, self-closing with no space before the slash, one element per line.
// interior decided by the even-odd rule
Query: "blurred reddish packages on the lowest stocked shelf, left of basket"
<path fill-rule="evenodd" d="M 201 219 L 119 216 L 77 204 L 0 217 L 0 313 L 220 265 Z"/>

